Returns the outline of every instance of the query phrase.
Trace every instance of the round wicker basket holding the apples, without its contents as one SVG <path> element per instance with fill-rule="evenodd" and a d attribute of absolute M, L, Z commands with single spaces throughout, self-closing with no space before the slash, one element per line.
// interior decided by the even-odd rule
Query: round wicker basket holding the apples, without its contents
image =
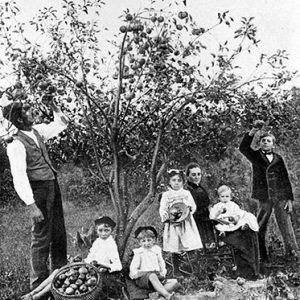
<path fill-rule="evenodd" d="M 54 287 L 54 282 L 57 280 L 59 275 L 61 275 L 62 273 L 67 272 L 69 269 L 74 268 L 74 267 L 88 267 L 88 268 L 92 268 L 96 272 L 97 283 L 94 286 L 93 290 L 82 293 L 80 295 L 66 295 L 66 294 L 60 293 Z M 91 264 L 84 263 L 84 262 L 72 263 L 72 264 L 69 264 L 65 267 L 62 267 L 59 270 L 59 272 L 55 275 L 55 277 L 53 278 L 52 283 L 51 283 L 51 292 L 52 292 L 52 295 L 53 295 L 55 300 L 98 300 L 101 291 L 102 291 L 102 276 L 101 276 L 101 273 L 99 272 L 99 270 L 95 266 L 93 266 Z"/>

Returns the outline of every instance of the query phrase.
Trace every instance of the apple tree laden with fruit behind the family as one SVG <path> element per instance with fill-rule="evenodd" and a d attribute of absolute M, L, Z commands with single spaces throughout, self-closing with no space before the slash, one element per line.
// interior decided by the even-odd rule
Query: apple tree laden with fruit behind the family
<path fill-rule="evenodd" d="M 167 166 L 199 153 L 220 160 L 257 118 L 282 140 L 299 124 L 289 91 L 281 88 L 293 76 L 284 67 L 285 51 L 261 56 L 257 69 L 269 71 L 246 81 L 238 75 L 237 58 L 258 43 L 253 18 L 242 18 L 233 40 L 212 51 L 202 39 L 218 26 L 231 30 L 235 22 L 228 12 L 203 28 L 183 8 L 157 11 L 151 1 L 139 12 L 124 12 L 124 24 L 110 41 L 115 51 L 106 58 L 99 21 L 91 18 L 103 4 L 63 0 L 59 12 L 45 7 L 30 22 L 48 37 L 41 46 L 24 35 L 15 3 L 5 2 L 0 34 L 16 74 L 8 97 L 35 104 L 44 121 L 52 118 L 48 103 L 60 102 L 72 123 L 52 143 L 52 155 L 80 162 L 107 187 L 124 253 Z M 143 187 L 138 200 L 132 197 L 135 183 Z"/>

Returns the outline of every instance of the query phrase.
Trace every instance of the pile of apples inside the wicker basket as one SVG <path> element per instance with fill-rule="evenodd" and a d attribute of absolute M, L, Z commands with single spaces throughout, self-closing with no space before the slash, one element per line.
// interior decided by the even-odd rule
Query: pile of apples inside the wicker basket
<path fill-rule="evenodd" d="M 92 291 L 97 282 L 98 275 L 92 266 L 71 265 L 54 279 L 53 286 L 62 295 L 82 295 Z"/>

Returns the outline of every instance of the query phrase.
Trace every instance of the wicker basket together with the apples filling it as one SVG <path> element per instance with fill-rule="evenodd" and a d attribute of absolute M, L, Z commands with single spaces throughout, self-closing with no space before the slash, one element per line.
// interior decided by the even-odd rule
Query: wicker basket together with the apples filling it
<path fill-rule="evenodd" d="M 102 276 L 91 264 L 78 262 L 59 270 L 52 280 L 55 300 L 97 300 L 102 289 Z"/>

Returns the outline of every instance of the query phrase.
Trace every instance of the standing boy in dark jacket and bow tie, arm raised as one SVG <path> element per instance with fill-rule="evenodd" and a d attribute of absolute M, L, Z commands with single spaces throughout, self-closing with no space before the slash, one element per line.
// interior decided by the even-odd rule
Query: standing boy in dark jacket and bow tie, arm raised
<path fill-rule="evenodd" d="M 240 144 L 241 153 L 252 164 L 252 198 L 259 201 L 257 221 L 261 259 L 268 260 L 265 236 L 273 209 L 286 255 L 297 257 L 298 245 L 290 216 L 293 209 L 293 191 L 282 157 L 273 152 L 275 137 L 271 133 L 263 133 L 260 135 L 259 149 L 251 148 L 254 135 L 262 126 L 262 121 L 254 122 L 253 128 L 245 134 Z"/>

